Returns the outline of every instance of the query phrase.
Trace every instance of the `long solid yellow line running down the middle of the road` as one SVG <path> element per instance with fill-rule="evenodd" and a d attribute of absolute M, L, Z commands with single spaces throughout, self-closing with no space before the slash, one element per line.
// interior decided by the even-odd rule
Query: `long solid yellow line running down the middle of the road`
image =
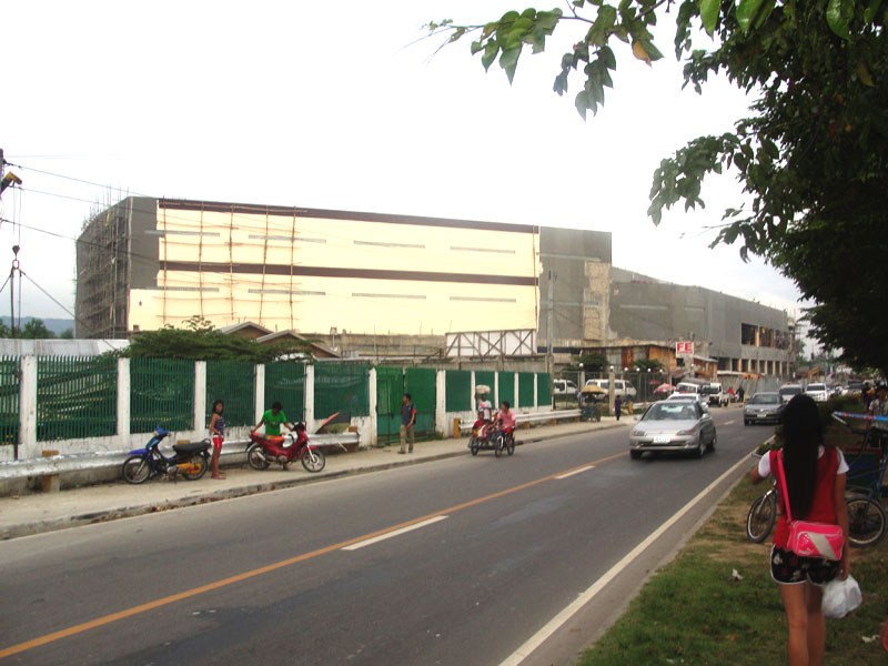
<path fill-rule="evenodd" d="M 430 521 L 432 518 L 437 518 L 438 516 L 444 516 L 446 514 L 452 514 L 457 511 L 462 511 L 464 508 L 470 508 L 472 506 L 476 506 L 478 504 L 483 504 L 484 502 L 490 502 L 491 500 L 496 500 L 497 497 L 504 497 L 505 495 L 511 495 L 512 493 L 517 493 L 518 491 L 523 491 L 535 485 L 539 485 L 541 483 L 545 483 L 547 481 L 552 481 L 556 478 L 561 474 L 571 473 L 578 470 L 584 470 L 589 465 L 597 465 L 601 463 L 605 463 L 607 461 L 613 461 L 615 458 L 625 456 L 626 452 L 617 453 L 614 455 L 609 455 L 607 457 L 599 458 L 592 463 L 584 463 L 583 465 L 578 465 L 576 467 L 572 467 L 565 472 L 557 472 L 555 474 L 549 474 L 548 476 L 544 476 L 542 478 L 537 478 L 535 481 L 528 481 L 527 483 L 523 483 L 521 485 L 513 486 L 511 488 L 506 488 L 504 491 L 500 491 L 497 493 L 491 493 L 490 495 L 484 495 L 483 497 L 477 497 L 476 500 L 470 500 L 468 502 L 463 502 L 462 504 L 457 504 L 455 506 L 451 506 L 448 508 L 443 508 L 441 511 L 436 511 L 434 513 L 420 516 L 418 518 L 413 518 L 412 521 L 406 521 L 404 523 L 400 523 L 398 525 L 392 525 L 391 527 L 384 527 L 382 529 L 377 529 L 376 532 L 371 532 L 369 534 L 364 534 L 361 536 L 356 536 L 354 538 L 350 538 L 349 541 L 340 542 L 337 544 L 333 544 L 331 546 L 324 546 L 323 548 L 317 548 L 316 551 L 312 551 L 310 553 L 303 553 L 302 555 L 297 555 L 295 557 L 290 557 L 287 559 L 282 559 L 280 562 L 275 562 L 273 564 L 269 564 L 265 566 L 261 566 L 259 568 L 254 568 L 248 572 L 243 572 L 236 574 L 234 576 L 229 576 L 228 578 L 222 578 L 221 581 L 216 581 L 214 583 L 208 583 L 206 585 L 201 585 L 200 587 L 193 587 L 191 589 L 185 589 L 183 592 L 171 594 L 165 597 L 161 597 L 159 599 L 154 599 L 153 602 L 148 602 L 144 604 L 139 604 L 138 606 L 133 606 L 131 608 L 124 608 L 123 610 L 118 610 L 117 613 L 111 613 L 110 615 L 102 615 L 101 617 L 97 617 L 89 622 L 84 622 L 78 625 L 73 625 L 65 629 L 60 629 L 58 632 L 52 632 L 51 634 L 46 634 L 43 636 L 38 636 L 37 638 L 32 638 L 31 640 L 26 640 L 24 643 L 17 643 L 16 645 L 10 645 L 3 649 L 0 649 L 0 659 L 4 657 L 11 657 L 12 655 L 18 655 L 29 649 L 33 649 L 34 647 L 40 647 L 42 645 L 47 645 L 49 643 L 56 643 L 57 640 L 61 640 L 62 638 L 69 638 L 71 636 L 75 636 L 78 634 L 82 634 L 83 632 L 88 632 L 90 629 L 94 629 L 97 627 L 102 627 L 104 625 L 109 625 L 111 623 L 118 622 L 120 619 L 125 619 L 128 617 L 132 617 L 134 615 L 141 615 L 142 613 L 147 613 L 149 610 L 153 610 L 155 608 L 160 608 L 162 606 L 168 606 L 170 604 L 174 604 L 175 602 L 181 602 L 183 599 L 191 598 L 193 596 L 198 596 L 208 592 L 213 592 L 214 589 L 220 589 L 222 587 L 228 587 L 229 585 L 233 585 L 235 583 L 241 583 L 243 581 L 249 581 L 250 578 L 255 578 L 256 576 L 262 576 L 264 574 L 270 574 L 272 572 L 276 572 L 286 566 L 292 566 L 294 564 L 299 564 L 300 562 L 305 562 L 306 559 L 313 559 L 315 557 L 320 557 L 321 555 L 326 555 L 327 553 L 332 553 L 333 551 L 339 551 L 341 548 L 345 548 L 353 544 L 357 544 L 360 542 L 364 542 L 371 538 L 375 538 L 377 536 L 386 535 L 391 532 L 396 532 L 398 529 L 404 529 L 405 527 L 411 527 L 416 525 L 417 523 L 423 523 Z"/>

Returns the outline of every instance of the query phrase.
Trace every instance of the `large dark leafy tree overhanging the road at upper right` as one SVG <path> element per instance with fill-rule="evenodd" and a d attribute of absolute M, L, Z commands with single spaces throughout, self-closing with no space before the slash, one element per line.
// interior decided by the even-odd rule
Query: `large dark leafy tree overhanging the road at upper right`
<path fill-rule="evenodd" d="M 702 92 L 710 74 L 726 72 L 757 93 L 748 118 L 733 131 L 700 137 L 662 161 L 648 214 L 684 202 L 703 206 L 705 176 L 731 170 L 747 205 L 725 211 L 714 245 L 740 241 L 744 259 L 763 256 L 815 301 L 810 333 L 845 359 L 888 370 L 879 345 L 875 266 L 888 251 L 881 201 L 888 184 L 888 2 L 881 0 L 573 0 L 561 9 L 506 12 L 484 26 L 431 23 L 447 43 L 476 34 L 473 53 L 490 68 L 497 58 L 512 81 L 525 46 L 545 50 L 563 26 L 582 28 L 561 60 L 554 90 L 564 94 L 577 75 L 579 113 L 604 103 L 616 69 L 616 41 L 648 64 L 662 58 L 650 28 L 677 8 L 675 53 L 685 84 Z M 703 30 L 702 30 L 703 29 Z M 696 43 L 703 32 L 707 48 Z M 872 286 L 870 286 L 872 285 Z"/>

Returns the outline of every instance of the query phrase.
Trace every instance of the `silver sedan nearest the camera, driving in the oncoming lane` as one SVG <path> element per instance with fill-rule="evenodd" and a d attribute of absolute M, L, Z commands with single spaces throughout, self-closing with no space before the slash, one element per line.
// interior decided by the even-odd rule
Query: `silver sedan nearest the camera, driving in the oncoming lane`
<path fill-rule="evenodd" d="M 686 451 L 703 457 L 716 444 L 715 422 L 696 400 L 656 402 L 629 432 L 629 455 L 638 460 L 645 451 Z"/>

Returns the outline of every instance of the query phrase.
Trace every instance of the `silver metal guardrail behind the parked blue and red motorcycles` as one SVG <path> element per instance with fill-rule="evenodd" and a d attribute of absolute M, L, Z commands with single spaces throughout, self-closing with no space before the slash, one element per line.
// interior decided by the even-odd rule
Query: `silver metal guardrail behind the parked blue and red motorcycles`
<path fill-rule="evenodd" d="M 359 433 L 342 433 L 337 435 L 311 435 L 314 446 L 339 446 L 343 451 L 349 444 L 360 442 Z M 222 445 L 222 457 L 231 461 L 234 456 L 246 453 L 249 440 L 232 440 Z M 51 445 L 51 443 L 48 443 Z M 134 446 L 138 448 L 138 446 Z M 172 450 L 163 446 L 164 453 Z M 114 467 L 123 464 L 129 457 L 128 451 L 103 451 L 94 453 L 70 453 L 51 457 L 31 458 L 26 461 L 9 461 L 0 463 L 0 482 L 29 476 L 53 476 L 70 472 L 84 472 Z"/>

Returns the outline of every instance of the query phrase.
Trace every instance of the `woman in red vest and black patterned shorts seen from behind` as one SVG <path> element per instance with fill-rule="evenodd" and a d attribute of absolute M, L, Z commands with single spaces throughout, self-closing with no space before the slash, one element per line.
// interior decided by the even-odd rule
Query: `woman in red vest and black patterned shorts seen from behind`
<path fill-rule="evenodd" d="M 841 452 L 824 445 L 817 403 L 796 395 L 784 411 L 784 447 L 761 456 L 749 481 L 758 483 L 777 468 L 783 455 L 786 493 L 780 493 L 780 517 L 774 532 L 770 574 L 780 589 L 789 625 L 787 653 L 790 666 L 819 666 L 826 644 L 826 618 L 820 610 L 823 586 L 837 575 L 844 581 L 851 572 L 847 536 L 841 557 L 831 561 L 800 557 L 787 548 L 789 525 L 786 495 L 794 519 L 839 525 L 848 534 L 845 507 L 845 476 L 848 464 Z"/>

